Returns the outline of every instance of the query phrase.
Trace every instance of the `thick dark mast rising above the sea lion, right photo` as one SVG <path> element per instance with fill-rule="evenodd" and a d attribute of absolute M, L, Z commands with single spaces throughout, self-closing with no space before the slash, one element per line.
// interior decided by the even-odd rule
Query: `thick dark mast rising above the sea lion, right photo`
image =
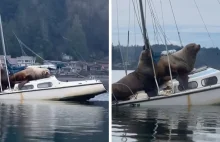
<path fill-rule="evenodd" d="M 143 27 L 144 45 L 145 45 L 145 49 L 150 49 L 150 42 L 149 42 L 149 39 L 146 36 L 147 32 L 146 32 L 146 26 L 145 26 L 145 20 L 144 20 L 142 0 L 139 0 L 139 4 L 140 4 L 140 13 L 141 13 L 141 23 L 142 23 L 142 27 Z"/>

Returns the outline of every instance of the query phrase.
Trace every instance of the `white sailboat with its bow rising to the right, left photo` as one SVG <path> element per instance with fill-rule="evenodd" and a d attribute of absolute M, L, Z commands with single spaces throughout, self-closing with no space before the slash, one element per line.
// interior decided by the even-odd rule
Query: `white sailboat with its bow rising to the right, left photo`
<path fill-rule="evenodd" d="M 2 47 L 4 52 L 4 62 L 7 65 L 1 15 L 0 30 Z M 106 89 L 100 80 L 92 79 L 84 81 L 62 82 L 59 81 L 55 76 L 30 81 L 26 83 L 21 89 L 18 89 L 18 84 L 15 84 L 14 88 L 11 88 L 9 83 L 9 72 L 7 67 L 6 73 L 9 87 L 6 90 L 2 90 L 2 86 L 0 84 L 0 100 L 86 101 L 90 98 L 95 97 L 96 95 L 106 92 Z"/>

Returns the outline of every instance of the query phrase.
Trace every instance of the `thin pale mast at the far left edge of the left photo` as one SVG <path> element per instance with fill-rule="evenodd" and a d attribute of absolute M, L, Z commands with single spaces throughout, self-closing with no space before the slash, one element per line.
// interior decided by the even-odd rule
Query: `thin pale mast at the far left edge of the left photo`
<path fill-rule="evenodd" d="M 7 68 L 7 63 L 6 63 L 5 40 L 4 40 L 4 35 L 3 35 L 1 15 L 0 15 L 0 29 L 1 29 L 1 40 L 2 40 L 2 47 L 3 47 L 3 53 L 4 53 L 4 62 L 5 62 L 6 74 L 7 74 L 7 79 L 8 79 L 8 86 L 9 86 L 9 89 L 11 90 L 11 85 L 10 85 L 9 75 L 8 75 L 8 68 Z"/>

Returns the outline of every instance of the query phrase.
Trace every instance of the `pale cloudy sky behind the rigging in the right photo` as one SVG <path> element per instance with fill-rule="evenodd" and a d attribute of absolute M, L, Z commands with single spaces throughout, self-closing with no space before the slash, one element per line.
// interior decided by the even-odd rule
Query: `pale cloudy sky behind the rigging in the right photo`
<path fill-rule="evenodd" d="M 158 43 L 155 40 L 155 34 L 150 14 L 148 0 L 142 0 L 144 11 L 146 10 L 146 27 L 151 44 Z M 175 26 L 172 9 L 169 0 L 152 0 L 156 10 L 156 16 L 163 28 L 162 15 L 164 17 L 165 34 L 169 40 L 168 43 L 180 45 L 177 28 Z M 183 45 L 188 43 L 197 43 L 202 47 L 219 47 L 220 48 L 220 0 L 196 0 L 201 12 L 205 25 L 210 33 L 211 38 L 206 31 L 205 25 L 199 15 L 194 0 L 171 0 L 176 23 L 180 32 Z M 118 3 L 118 5 L 117 5 Z M 130 4 L 129 4 L 130 3 Z M 139 0 L 134 0 L 136 6 L 139 6 Z M 162 5 L 161 5 L 162 3 Z M 130 5 L 130 8 L 129 8 Z M 161 10 L 161 6 L 162 9 Z M 118 7 L 118 8 L 117 8 Z M 145 8 L 146 7 L 146 8 Z M 130 10 L 129 10 L 130 9 Z M 138 10 L 138 11 L 137 11 Z M 118 12 L 117 12 L 118 11 Z M 139 12 L 139 8 L 136 9 Z M 118 16 L 117 16 L 118 13 Z M 130 13 L 130 16 L 129 16 Z M 155 12 L 154 12 L 155 13 Z M 139 16 L 140 14 L 138 14 Z M 118 17 L 118 24 L 117 24 Z M 129 22 L 130 17 L 130 22 Z M 129 24 L 130 23 L 130 24 Z M 129 45 L 143 45 L 143 38 L 137 17 L 135 16 L 132 0 L 112 0 L 112 42 L 114 45 L 118 41 L 122 45 L 127 45 L 128 34 L 130 32 Z M 119 32 L 118 32 L 119 31 Z M 158 34 L 157 34 L 158 35 Z M 159 43 L 164 43 L 162 34 Z M 163 39 L 163 40 L 162 40 Z"/>

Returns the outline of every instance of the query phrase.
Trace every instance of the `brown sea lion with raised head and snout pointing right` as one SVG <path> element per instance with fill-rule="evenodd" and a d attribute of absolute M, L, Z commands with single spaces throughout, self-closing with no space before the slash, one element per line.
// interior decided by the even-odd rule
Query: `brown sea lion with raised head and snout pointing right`
<path fill-rule="evenodd" d="M 188 88 L 188 74 L 194 69 L 199 50 L 199 44 L 190 43 L 181 50 L 169 55 L 172 75 L 180 82 L 183 89 Z M 158 78 L 162 81 L 170 79 L 168 56 L 161 56 L 157 63 L 157 69 Z"/>

